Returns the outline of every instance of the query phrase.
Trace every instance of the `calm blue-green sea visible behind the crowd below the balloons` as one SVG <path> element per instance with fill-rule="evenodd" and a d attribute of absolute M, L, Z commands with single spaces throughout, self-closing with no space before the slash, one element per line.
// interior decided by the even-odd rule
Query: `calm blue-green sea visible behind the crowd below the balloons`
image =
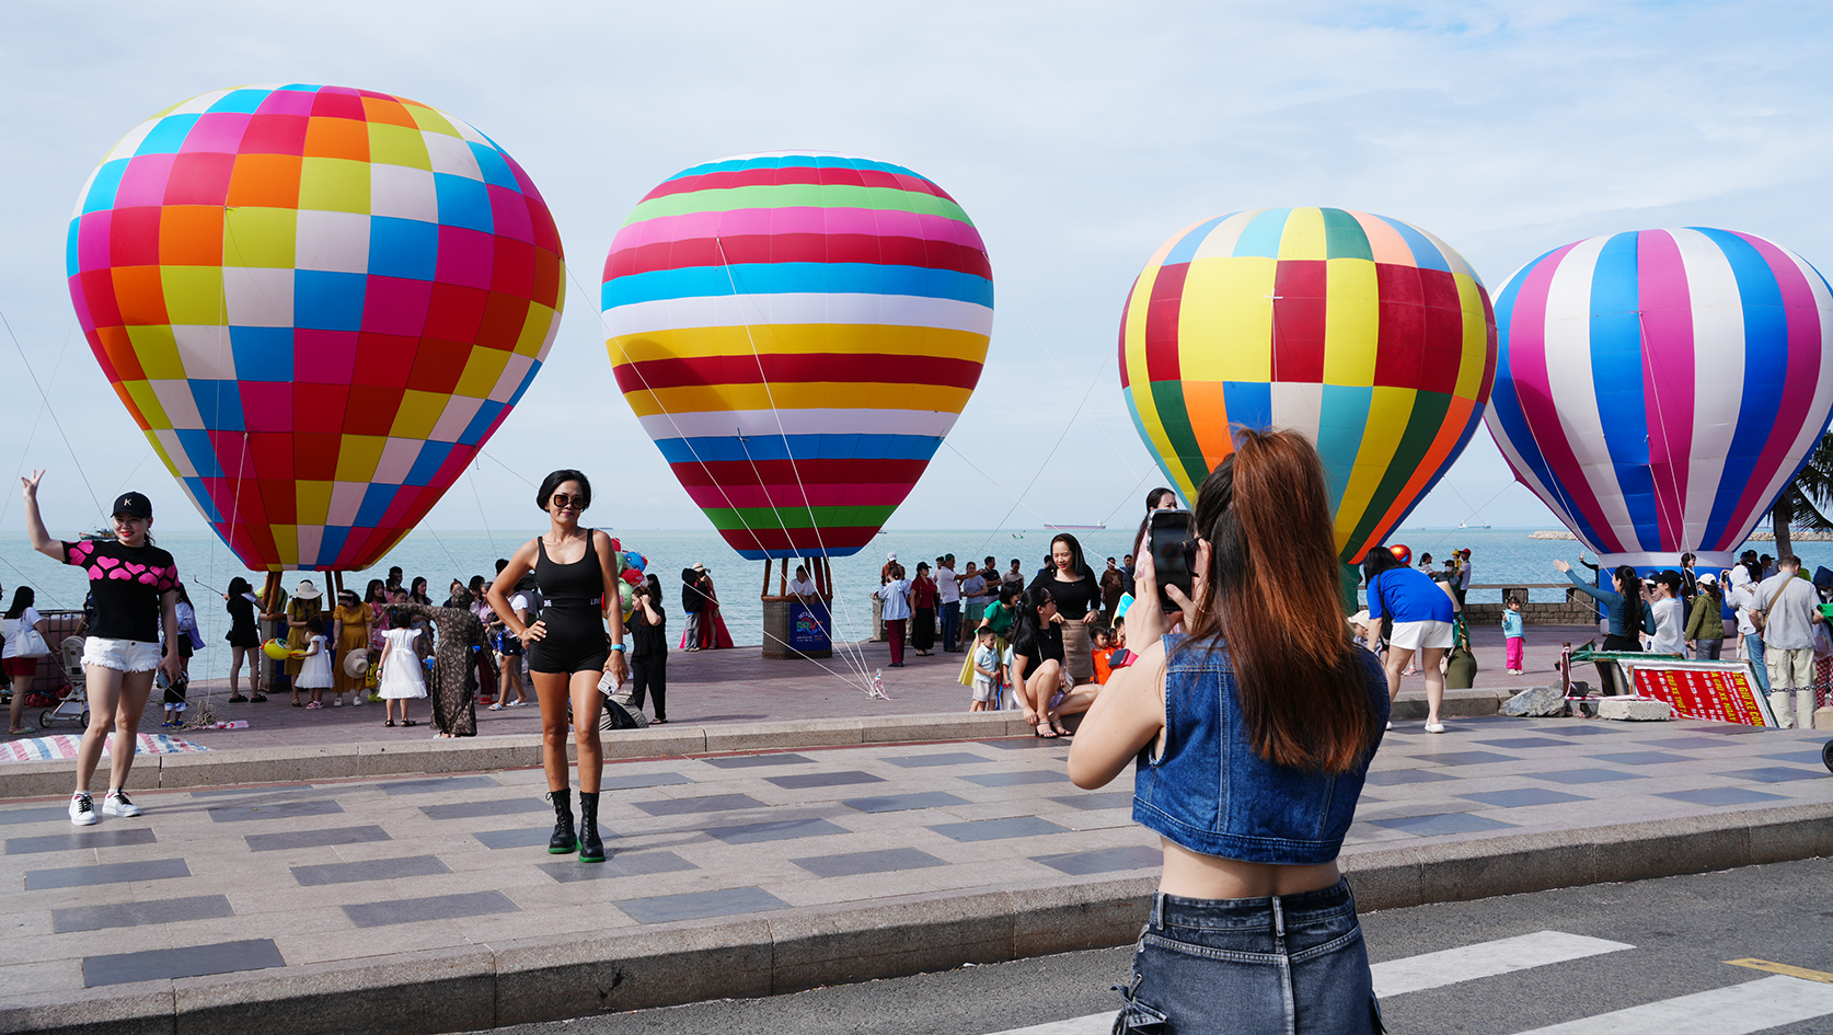
<path fill-rule="evenodd" d="M 649 572 L 662 579 L 669 599 L 669 632 L 680 636 L 680 572 L 695 562 L 706 564 L 713 573 L 713 583 L 720 599 L 720 614 L 739 647 L 757 647 L 763 643 L 763 606 L 759 590 L 763 588 L 764 562 L 744 561 L 726 540 L 713 531 L 680 529 L 607 529 L 618 537 L 625 550 L 636 550 L 649 561 Z M 1107 557 L 1120 559 L 1129 550 L 1133 528 L 1107 528 L 1074 531 L 1081 542 L 1089 564 L 1100 572 Z M 1476 564 L 1474 581 L 1477 584 L 1551 584 L 1562 575 L 1553 568 L 1553 561 L 1578 559 L 1576 540 L 1531 539 L 1536 528 L 1406 528 L 1389 537 L 1389 542 L 1404 542 L 1413 551 L 1417 562 L 1421 553 L 1435 559 L 1448 557 L 1454 550 L 1470 550 Z M 379 566 L 368 572 L 346 572 L 345 586 L 357 592 L 370 579 L 381 579 L 387 570 L 400 564 L 411 583 L 416 575 L 425 575 L 429 595 L 444 601 L 453 577 L 469 581 L 471 575 L 495 573 L 495 561 L 508 557 L 519 544 L 526 542 L 539 529 L 522 533 L 491 531 L 434 531 L 414 529 L 381 559 Z M 1045 564 L 1050 551 L 1048 529 L 889 529 L 880 533 L 873 546 L 852 557 L 832 561 L 836 599 L 834 630 L 841 639 L 865 639 L 871 632 L 871 594 L 878 588 L 878 568 L 889 553 L 915 570 L 918 561 L 935 561 L 944 553 L 957 557 L 957 570 L 966 568 L 968 559 L 981 561 L 997 557 L 1004 570 L 1014 559 L 1021 562 L 1026 575 Z M 222 603 L 222 590 L 235 575 L 246 577 L 257 588 L 264 575 L 242 568 L 240 561 L 211 533 L 169 533 L 159 535 L 158 544 L 172 551 L 178 570 L 185 577 L 192 605 L 198 610 L 198 626 L 203 632 L 205 648 L 192 659 L 192 678 L 218 678 L 229 672 L 229 650 L 224 636 L 229 630 L 229 614 Z M 1774 542 L 1752 540 L 1749 544 L 1760 553 L 1774 553 Z M 1740 548 L 1741 550 L 1741 548 Z M 1795 553 L 1811 572 L 1826 564 L 1833 568 L 1833 542 L 1796 542 Z M 1595 559 L 1595 557 L 1593 557 Z M 301 579 L 313 579 L 324 588 L 324 573 L 288 572 L 284 586 L 288 592 Z M 0 537 L 0 586 L 4 599 L 11 603 L 13 588 L 27 584 L 37 590 L 38 608 L 81 608 L 86 583 L 68 566 L 53 562 L 49 557 L 31 550 L 22 535 Z M 770 592 L 777 588 L 777 573 L 772 572 Z M 1564 590 L 1531 590 L 1534 601 L 1560 601 Z M 1472 590 L 1472 603 L 1496 603 L 1501 590 Z"/>

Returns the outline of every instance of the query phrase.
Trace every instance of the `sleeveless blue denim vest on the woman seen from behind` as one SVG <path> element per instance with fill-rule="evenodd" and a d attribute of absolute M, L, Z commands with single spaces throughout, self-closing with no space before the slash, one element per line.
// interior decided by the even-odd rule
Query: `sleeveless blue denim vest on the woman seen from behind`
<path fill-rule="evenodd" d="M 1347 773 L 1307 773 L 1261 758 L 1235 700 L 1228 647 L 1173 650 L 1164 691 L 1164 755 L 1153 744 L 1133 773 L 1133 821 L 1202 855 L 1303 866 L 1329 863 L 1362 797 L 1369 757 Z M 1388 681 L 1356 650 L 1377 729 L 1388 722 Z M 1377 733 L 1375 746 L 1380 746 Z"/>

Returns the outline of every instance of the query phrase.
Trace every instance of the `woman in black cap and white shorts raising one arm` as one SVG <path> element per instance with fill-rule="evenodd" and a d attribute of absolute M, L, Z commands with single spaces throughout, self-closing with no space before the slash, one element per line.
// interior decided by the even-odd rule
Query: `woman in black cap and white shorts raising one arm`
<path fill-rule="evenodd" d="M 77 790 L 70 795 L 70 823 L 92 826 L 97 821 L 90 801 L 90 779 L 103 758 L 108 731 L 114 729 L 114 749 L 108 753 L 108 795 L 103 812 L 108 815 L 139 815 L 139 806 L 126 797 L 126 775 L 134 768 L 134 738 L 139 735 L 139 716 L 152 694 L 154 669 L 178 681 L 183 661 L 178 650 L 159 658 L 159 630 L 167 643 L 178 643 L 178 564 L 172 555 L 152 544 L 152 500 L 139 493 L 121 493 L 115 498 L 112 540 L 59 542 L 44 531 L 38 515 L 38 482 L 44 471 L 20 478 L 26 496 L 26 535 L 31 548 L 60 564 L 82 568 L 95 597 L 95 621 L 82 641 L 82 680 L 90 698 L 90 727 L 82 731 L 77 747 Z M 125 573 L 119 577 L 115 573 Z"/>

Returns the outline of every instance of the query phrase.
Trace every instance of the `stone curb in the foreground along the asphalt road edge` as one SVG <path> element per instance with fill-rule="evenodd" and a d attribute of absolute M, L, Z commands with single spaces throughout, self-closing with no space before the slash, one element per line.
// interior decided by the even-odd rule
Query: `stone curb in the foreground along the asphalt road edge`
<path fill-rule="evenodd" d="M 1362 910 L 1833 854 L 1833 804 L 1351 850 Z M 803 907 L 93 989 L 11 993 L 0 1033 L 433 1035 L 708 998 L 753 998 L 960 964 L 1125 945 L 1157 874 Z"/>

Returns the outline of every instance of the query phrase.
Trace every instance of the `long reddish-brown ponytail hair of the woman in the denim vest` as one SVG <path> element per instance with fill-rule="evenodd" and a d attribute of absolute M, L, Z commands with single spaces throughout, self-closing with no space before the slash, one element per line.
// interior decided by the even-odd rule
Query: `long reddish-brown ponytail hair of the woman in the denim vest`
<path fill-rule="evenodd" d="M 1325 773 L 1356 768 L 1377 716 L 1336 592 L 1318 451 L 1298 432 L 1237 429 L 1195 517 L 1210 572 L 1184 643 L 1226 641 L 1241 718 L 1263 758 Z"/>

